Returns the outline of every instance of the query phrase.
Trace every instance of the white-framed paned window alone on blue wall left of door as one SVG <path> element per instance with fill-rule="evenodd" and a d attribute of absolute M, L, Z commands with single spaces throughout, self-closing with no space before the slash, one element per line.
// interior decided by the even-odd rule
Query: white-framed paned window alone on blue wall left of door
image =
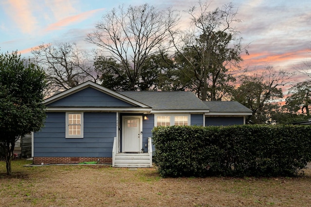
<path fill-rule="evenodd" d="M 83 113 L 66 113 L 66 138 L 83 138 Z"/>

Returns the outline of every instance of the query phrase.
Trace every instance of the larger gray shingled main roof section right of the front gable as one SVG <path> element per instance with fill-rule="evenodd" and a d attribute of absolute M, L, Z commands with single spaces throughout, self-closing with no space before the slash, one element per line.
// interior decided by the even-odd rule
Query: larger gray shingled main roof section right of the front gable
<path fill-rule="evenodd" d="M 197 96 L 187 91 L 122 91 L 118 93 L 148 105 L 153 110 L 208 110 Z"/>

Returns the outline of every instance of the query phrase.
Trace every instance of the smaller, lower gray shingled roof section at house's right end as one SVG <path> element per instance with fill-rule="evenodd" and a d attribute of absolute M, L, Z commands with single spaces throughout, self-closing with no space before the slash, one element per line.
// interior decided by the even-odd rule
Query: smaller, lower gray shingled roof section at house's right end
<path fill-rule="evenodd" d="M 203 101 L 209 112 L 253 112 L 238 101 Z"/>

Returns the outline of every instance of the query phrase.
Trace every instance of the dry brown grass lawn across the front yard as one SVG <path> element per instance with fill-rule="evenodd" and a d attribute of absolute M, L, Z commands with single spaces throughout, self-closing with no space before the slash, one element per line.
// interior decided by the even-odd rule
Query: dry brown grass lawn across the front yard
<path fill-rule="evenodd" d="M 155 168 L 100 165 L 23 167 L 6 176 L 0 161 L 0 206 L 311 206 L 311 170 L 273 178 L 161 178 Z"/>

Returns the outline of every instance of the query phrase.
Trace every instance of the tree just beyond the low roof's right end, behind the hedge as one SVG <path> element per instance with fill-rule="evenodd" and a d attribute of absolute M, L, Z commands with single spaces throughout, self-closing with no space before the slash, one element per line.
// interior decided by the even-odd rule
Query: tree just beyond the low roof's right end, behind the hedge
<path fill-rule="evenodd" d="M 251 72 L 250 72 L 251 73 Z M 267 123 L 271 114 L 279 109 L 277 99 L 283 98 L 282 87 L 291 83 L 292 74 L 272 66 L 266 66 L 262 72 L 241 78 L 241 85 L 235 90 L 233 99 L 253 111 L 249 122 L 253 124 Z"/>

